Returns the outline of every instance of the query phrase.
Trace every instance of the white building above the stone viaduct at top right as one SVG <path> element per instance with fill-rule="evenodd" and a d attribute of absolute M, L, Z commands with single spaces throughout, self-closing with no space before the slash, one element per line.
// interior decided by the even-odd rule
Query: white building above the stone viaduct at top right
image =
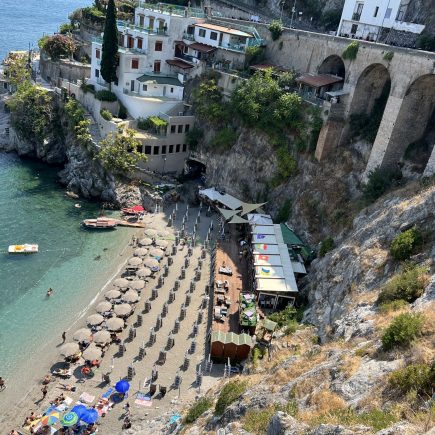
<path fill-rule="evenodd" d="M 411 0 L 346 0 L 338 35 L 377 41 L 382 29 L 421 33 L 424 25 L 403 21 Z"/>

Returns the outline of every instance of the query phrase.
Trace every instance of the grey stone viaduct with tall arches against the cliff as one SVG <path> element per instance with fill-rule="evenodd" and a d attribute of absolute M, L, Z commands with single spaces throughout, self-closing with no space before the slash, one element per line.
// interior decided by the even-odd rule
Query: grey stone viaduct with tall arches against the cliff
<path fill-rule="evenodd" d="M 381 96 L 382 120 L 366 175 L 377 167 L 397 167 L 408 146 L 428 137 L 430 130 L 431 142 L 435 142 L 435 53 L 359 41 L 357 57 L 345 60 L 342 54 L 352 42 L 347 38 L 284 29 L 281 37 L 272 41 L 266 25 L 255 27 L 267 40 L 268 62 L 298 73 L 344 77 L 345 95 L 338 104 L 330 105 L 319 136 L 319 160 L 332 148 L 346 144 L 350 115 L 369 115 Z M 435 173 L 434 148 L 426 150 L 421 170 L 425 176 Z"/>

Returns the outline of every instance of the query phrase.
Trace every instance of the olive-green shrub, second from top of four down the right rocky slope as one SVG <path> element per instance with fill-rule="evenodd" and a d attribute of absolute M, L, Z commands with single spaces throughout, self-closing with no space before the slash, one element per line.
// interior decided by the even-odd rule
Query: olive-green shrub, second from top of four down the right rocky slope
<path fill-rule="evenodd" d="M 402 272 L 393 276 L 381 289 L 378 304 L 404 300 L 414 302 L 419 298 L 427 285 L 427 275 L 423 267 L 407 265 Z"/>

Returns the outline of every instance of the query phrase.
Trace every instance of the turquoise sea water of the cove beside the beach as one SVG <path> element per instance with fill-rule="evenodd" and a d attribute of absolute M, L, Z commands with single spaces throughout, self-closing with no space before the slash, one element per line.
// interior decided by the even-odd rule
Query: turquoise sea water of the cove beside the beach
<path fill-rule="evenodd" d="M 57 171 L 0 154 L 0 376 L 6 378 L 77 319 L 116 272 L 131 236 L 128 228 L 83 229 L 81 220 L 97 216 L 100 206 L 66 197 Z M 38 243 L 40 252 L 7 254 L 16 243 Z"/>

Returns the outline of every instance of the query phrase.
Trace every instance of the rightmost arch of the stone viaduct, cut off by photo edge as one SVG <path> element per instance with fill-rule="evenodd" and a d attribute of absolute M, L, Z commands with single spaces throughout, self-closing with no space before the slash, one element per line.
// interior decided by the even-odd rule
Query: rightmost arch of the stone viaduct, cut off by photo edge
<path fill-rule="evenodd" d="M 435 142 L 434 119 L 435 74 L 425 74 L 408 86 L 401 100 L 395 122 L 390 126 L 391 135 L 381 166 L 393 169 L 398 164 L 402 166 L 404 158 L 411 158 L 414 169 L 424 170 Z M 388 130 L 384 123 L 382 127 Z M 413 162 L 412 157 L 417 161 Z"/>

